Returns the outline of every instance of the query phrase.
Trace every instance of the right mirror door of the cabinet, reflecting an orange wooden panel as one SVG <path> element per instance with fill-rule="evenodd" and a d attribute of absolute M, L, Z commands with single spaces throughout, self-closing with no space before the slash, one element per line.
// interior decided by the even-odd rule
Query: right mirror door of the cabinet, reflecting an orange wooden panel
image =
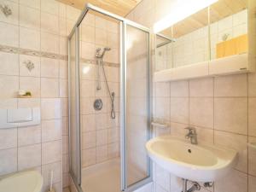
<path fill-rule="evenodd" d="M 211 59 L 247 53 L 247 1 L 219 0 L 210 7 Z"/>

